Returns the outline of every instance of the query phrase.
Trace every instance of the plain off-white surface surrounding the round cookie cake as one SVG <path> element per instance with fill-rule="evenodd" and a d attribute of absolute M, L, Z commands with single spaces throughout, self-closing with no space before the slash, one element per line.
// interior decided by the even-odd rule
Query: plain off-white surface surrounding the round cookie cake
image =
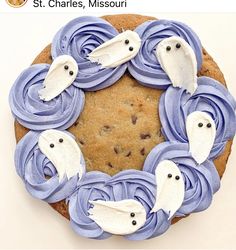
<path fill-rule="evenodd" d="M 144 14 L 189 24 L 224 72 L 228 88 L 236 97 L 236 14 Z M 76 16 L 0 15 L 0 248 L 236 249 L 235 143 L 222 187 L 211 207 L 183 219 L 161 237 L 147 241 L 131 242 L 120 237 L 95 241 L 77 236 L 66 219 L 26 192 L 14 169 L 15 138 L 8 92 L 18 74 L 50 43 L 54 33 Z"/>

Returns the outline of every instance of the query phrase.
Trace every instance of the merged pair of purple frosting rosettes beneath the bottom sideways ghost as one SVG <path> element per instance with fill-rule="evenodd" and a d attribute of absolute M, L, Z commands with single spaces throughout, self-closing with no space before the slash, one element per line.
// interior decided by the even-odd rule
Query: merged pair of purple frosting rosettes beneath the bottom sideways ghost
<path fill-rule="evenodd" d="M 104 239 L 111 236 L 88 217 L 88 210 L 92 206 L 89 201 L 125 199 L 137 200 L 147 213 L 145 224 L 135 233 L 125 236 L 129 240 L 152 238 L 169 228 L 170 221 L 163 210 L 149 213 L 156 200 L 155 176 L 138 170 L 125 170 L 113 177 L 96 171 L 86 173 L 76 191 L 68 198 L 72 228 L 79 235 L 89 238 Z"/>

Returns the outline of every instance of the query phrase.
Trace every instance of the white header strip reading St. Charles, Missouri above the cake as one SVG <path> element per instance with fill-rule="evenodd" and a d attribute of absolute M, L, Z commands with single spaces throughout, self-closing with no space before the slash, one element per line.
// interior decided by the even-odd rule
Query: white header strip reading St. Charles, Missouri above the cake
<path fill-rule="evenodd" d="M 235 0 L 0 0 L 0 13 L 236 12 Z"/>

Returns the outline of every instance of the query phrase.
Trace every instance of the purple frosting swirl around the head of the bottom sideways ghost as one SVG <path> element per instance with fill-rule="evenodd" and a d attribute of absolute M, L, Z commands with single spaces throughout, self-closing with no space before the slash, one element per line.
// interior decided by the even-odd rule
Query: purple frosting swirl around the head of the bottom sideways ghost
<path fill-rule="evenodd" d="M 150 213 L 156 201 L 156 179 L 153 174 L 125 170 L 113 176 L 107 183 L 112 190 L 113 200 L 134 199 L 145 208 L 147 220 L 135 233 L 126 235 L 129 240 L 144 240 L 163 234 L 170 226 L 168 215 L 163 210 Z"/>

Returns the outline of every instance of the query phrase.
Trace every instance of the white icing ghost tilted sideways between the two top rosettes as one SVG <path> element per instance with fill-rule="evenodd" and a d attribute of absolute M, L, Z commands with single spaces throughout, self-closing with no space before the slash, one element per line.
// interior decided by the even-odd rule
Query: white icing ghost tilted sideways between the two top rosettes
<path fill-rule="evenodd" d="M 101 64 L 104 68 L 115 68 L 134 58 L 140 46 L 139 35 L 127 30 L 94 49 L 88 55 L 88 59 Z"/>

